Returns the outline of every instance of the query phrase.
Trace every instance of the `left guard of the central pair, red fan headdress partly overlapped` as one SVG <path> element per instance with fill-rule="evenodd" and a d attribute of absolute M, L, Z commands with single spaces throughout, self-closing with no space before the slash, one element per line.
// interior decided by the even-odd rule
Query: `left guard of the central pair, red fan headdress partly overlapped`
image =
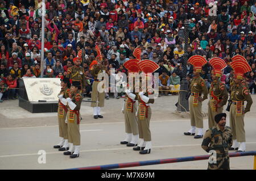
<path fill-rule="evenodd" d="M 125 68 L 132 73 L 139 73 L 139 60 L 130 59 L 123 64 Z M 128 74 L 129 76 L 129 74 Z M 129 77 L 128 77 L 129 78 Z M 139 130 L 138 130 L 138 121 L 137 121 L 137 104 L 136 100 L 138 100 L 138 92 L 135 91 L 135 77 L 133 78 L 133 87 L 129 87 L 129 83 L 127 83 L 127 89 L 125 94 L 125 100 L 123 102 L 122 113 L 125 116 L 125 132 L 126 138 L 121 141 L 120 144 L 126 146 L 137 146 L 139 140 Z"/>

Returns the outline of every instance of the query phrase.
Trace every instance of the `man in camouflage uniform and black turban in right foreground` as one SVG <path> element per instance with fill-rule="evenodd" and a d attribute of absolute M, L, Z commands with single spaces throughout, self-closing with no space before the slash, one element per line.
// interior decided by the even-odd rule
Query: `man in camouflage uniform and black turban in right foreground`
<path fill-rule="evenodd" d="M 211 153 L 208 170 L 229 170 L 229 148 L 232 146 L 232 131 L 226 125 L 226 113 L 214 116 L 216 125 L 205 132 L 202 148 Z M 215 158 L 214 158 L 215 157 Z"/>

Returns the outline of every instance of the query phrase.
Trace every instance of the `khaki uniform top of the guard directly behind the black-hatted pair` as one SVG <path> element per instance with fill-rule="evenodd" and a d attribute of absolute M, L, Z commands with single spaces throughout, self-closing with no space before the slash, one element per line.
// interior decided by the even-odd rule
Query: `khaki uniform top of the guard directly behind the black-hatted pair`
<path fill-rule="evenodd" d="M 71 68 L 68 68 L 66 77 L 71 79 L 72 81 L 80 82 L 82 89 L 85 88 L 85 73 L 84 69 L 81 68 L 81 66 L 73 65 Z"/>

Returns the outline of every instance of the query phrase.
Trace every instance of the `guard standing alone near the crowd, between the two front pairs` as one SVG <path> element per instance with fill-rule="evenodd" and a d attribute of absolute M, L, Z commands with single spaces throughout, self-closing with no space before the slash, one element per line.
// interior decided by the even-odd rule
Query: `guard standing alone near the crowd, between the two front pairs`
<path fill-rule="evenodd" d="M 98 84 L 101 83 L 98 79 L 98 74 L 105 72 L 105 66 L 101 65 L 100 61 L 93 61 L 90 64 L 90 74 L 94 77 L 93 85 L 92 85 L 92 102 L 90 107 L 93 107 L 93 117 L 94 119 L 98 119 L 98 117 L 103 118 L 101 115 L 101 107 L 104 107 L 105 100 L 105 91 L 100 92 L 98 90 Z M 106 85 L 104 85 L 106 86 Z M 102 85 L 103 89 L 103 85 Z"/>

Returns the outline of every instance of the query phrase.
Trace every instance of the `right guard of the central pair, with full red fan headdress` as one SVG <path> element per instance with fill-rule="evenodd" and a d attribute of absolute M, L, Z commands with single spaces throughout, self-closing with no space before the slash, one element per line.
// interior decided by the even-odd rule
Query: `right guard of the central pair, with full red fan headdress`
<path fill-rule="evenodd" d="M 137 110 L 137 119 L 139 127 L 139 139 L 140 142 L 137 147 L 133 150 L 141 150 L 139 154 L 149 154 L 152 149 L 151 144 L 151 132 L 150 132 L 150 118 L 151 118 L 151 107 L 150 104 L 155 102 L 155 99 L 152 97 L 154 90 L 152 90 L 152 85 L 148 85 L 148 78 L 151 78 L 155 70 L 159 69 L 159 66 L 151 60 L 143 60 L 138 62 L 139 68 L 143 71 L 146 76 L 145 80 L 142 80 L 141 91 L 138 96 L 138 110 Z M 144 83 L 143 83 L 144 82 Z M 143 92 L 142 87 L 145 86 L 146 92 Z"/>

